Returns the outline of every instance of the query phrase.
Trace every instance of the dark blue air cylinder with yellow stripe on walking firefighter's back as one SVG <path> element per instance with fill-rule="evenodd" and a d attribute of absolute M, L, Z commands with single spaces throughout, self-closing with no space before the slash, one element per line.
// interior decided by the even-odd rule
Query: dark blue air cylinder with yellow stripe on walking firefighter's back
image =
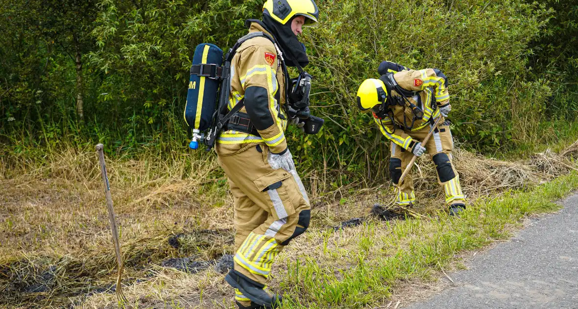
<path fill-rule="evenodd" d="M 199 148 L 201 133 L 211 126 L 216 108 L 223 50 L 213 44 L 202 43 L 195 48 L 188 82 L 184 120 L 192 128 L 191 149 Z"/>

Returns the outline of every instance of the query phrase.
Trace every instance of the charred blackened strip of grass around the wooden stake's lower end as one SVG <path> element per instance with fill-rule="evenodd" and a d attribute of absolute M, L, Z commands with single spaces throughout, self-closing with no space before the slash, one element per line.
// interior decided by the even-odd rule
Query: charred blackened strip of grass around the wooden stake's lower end
<path fill-rule="evenodd" d="M 227 251 L 232 244 L 233 231 L 228 229 L 186 231 L 125 244 L 125 275 L 129 278 L 124 279 L 123 284 L 148 280 L 154 275 L 148 271 L 152 264 L 191 274 L 213 266 L 219 272 L 228 271 L 232 267 L 232 256 L 223 256 L 223 253 L 230 253 Z M 110 250 L 95 251 L 84 258 L 20 256 L 2 263 L 0 305 L 42 307 L 49 301 L 66 307 L 78 297 L 114 293 L 116 290 L 112 246 Z"/>

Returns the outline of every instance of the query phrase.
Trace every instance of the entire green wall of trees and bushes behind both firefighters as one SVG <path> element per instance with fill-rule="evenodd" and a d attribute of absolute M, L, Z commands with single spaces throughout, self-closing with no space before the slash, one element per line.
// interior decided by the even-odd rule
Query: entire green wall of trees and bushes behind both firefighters
<path fill-rule="evenodd" d="M 186 151 L 182 111 L 194 47 L 230 47 L 246 32 L 244 19 L 259 18 L 262 6 L 261 0 L 0 3 L 0 142 L 21 151 L 99 141 L 117 153 L 141 146 Z M 314 76 L 313 112 L 326 123 L 317 136 L 293 128 L 288 136 L 303 168 L 339 172 L 336 186 L 385 173 L 388 143 L 354 104 L 358 84 L 376 77 L 382 60 L 446 73 L 454 135 L 481 151 L 555 139 L 545 128 L 577 115 L 572 1 L 317 4 L 321 24 L 302 41 L 312 59 L 306 69 Z"/>

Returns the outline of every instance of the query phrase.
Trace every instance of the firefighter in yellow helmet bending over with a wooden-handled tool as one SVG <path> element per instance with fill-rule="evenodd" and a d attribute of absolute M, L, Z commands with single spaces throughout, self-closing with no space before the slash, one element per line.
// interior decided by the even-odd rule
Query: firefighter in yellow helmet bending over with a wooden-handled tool
<path fill-rule="evenodd" d="M 422 145 L 433 120 L 447 117 L 450 95 L 447 78 L 439 69 L 413 70 L 381 62 L 379 79 L 366 79 L 357 91 L 357 105 L 363 112 L 372 111 L 379 130 L 391 141 L 390 174 L 395 185 L 413 155 L 427 149 L 436 165 L 439 185 L 446 195 L 450 214 L 465 209 L 460 178 L 451 163 L 453 140 L 450 126 L 444 122 L 433 131 L 427 145 Z M 399 186 L 397 205 L 413 204 L 416 199 L 411 172 Z"/>

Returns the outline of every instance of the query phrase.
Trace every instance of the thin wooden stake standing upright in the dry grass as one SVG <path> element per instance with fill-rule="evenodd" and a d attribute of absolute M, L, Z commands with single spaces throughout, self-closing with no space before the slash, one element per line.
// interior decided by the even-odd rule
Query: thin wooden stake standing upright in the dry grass
<path fill-rule="evenodd" d="M 116 219 L 114 219 L 114 208 L 112 205 L 112 196 L 110 196 L 110 185 L 108 182 L 108 175 L 106 175 L 106 165 L 105 165 L 105 154 L 103 152 L 104 146 L 102 144 L 97 145 L 97 153 L 98 153 L 98 160 L 101 163 L 101 175 L 102 175 L 102 182 L 105 186 L 105 194 L 106 194 L 106 206 L 108 207 L 109 211 L 109 219 L 110 219 L 110 230 L 112 231 L 112 240 L 114 242 L 114 253 L 116 254 L 116 262 L 117 262 L 117 271 L 118 277 L 116 279 L 116 297 L 118 301 L 127 301 L 127 298 L 123 295 L 122 285 L 121 285 L 121 277 L 123 274 L 123 256 L 120 254 L 120 240 L 118 239 L 118 229 L 116 226 Z"/>

